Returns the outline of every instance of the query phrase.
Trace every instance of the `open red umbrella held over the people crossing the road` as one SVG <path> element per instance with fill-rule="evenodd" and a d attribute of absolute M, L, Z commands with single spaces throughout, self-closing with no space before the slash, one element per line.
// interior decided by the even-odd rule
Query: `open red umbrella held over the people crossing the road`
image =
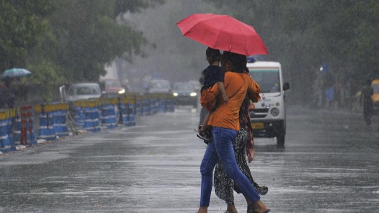
<path fill-rule="evenodd" d="M 230 16 L 193 14 L 176 25 L 183 36 L 208 47 L 242 55 L 267 55 L 268 51 L 254 28 Z"/>

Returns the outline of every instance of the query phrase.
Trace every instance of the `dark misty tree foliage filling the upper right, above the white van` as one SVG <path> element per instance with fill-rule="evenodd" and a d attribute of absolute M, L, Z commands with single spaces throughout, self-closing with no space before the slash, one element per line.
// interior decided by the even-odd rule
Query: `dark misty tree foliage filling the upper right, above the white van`
<path fill-rule="evenodd" d="M 328 63 L 332 74 L 353 90 L 379 76 L 376 0 L 214 0 L 226 14 L 252 25 L 280 61 L 285 78 L 309 102 L 315 72 Z"/>

